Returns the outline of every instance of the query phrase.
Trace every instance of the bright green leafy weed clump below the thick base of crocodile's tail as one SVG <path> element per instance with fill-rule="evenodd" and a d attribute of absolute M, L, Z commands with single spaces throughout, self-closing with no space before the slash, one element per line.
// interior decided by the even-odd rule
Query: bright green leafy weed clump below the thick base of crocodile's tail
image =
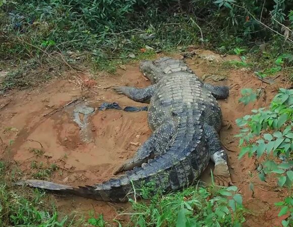
<path fill-rule="evenodd" d="M 245 209 L 241 195 L 231 193 L 236 189 L 189 187 L 164 196 L 152 195 L 150 203 L 130 199 L 131 222 L 139 226 L 240 226 Z"/>

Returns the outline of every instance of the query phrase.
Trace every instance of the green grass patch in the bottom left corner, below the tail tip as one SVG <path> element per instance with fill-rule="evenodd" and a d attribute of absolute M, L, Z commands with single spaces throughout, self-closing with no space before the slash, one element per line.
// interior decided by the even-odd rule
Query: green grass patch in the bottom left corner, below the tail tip
<path fill-rule="evenodd" d="M 0 226 L 78 227 L 79 215 L 60 215 L 50 197 L 39 190 L 13 186 L 8 166 L 0 161 Z"/>

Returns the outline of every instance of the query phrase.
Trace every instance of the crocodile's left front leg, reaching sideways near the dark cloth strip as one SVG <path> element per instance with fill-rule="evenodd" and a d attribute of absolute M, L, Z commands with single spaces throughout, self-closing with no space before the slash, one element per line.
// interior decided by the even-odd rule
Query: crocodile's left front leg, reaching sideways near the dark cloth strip
<path fill-rule="evenodd" d="M 150 99 L 154 93 L 155 85 L 151 85 L 146 88 L 135 88 L 135 87 L 114 87 L 113 90 L 116 91 L 118 94 L 125 94 L 127 97 L 131 98 L 137 102 L 146 102 L 150 103 Z"/>

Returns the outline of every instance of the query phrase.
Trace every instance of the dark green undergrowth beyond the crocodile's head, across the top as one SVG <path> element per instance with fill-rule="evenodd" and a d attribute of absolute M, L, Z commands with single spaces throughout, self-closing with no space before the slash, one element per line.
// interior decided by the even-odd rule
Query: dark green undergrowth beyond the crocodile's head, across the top
<path fill-rule="evenodd" d="M 1 0 L 0 5 L 1 69 L 11 69 L 2 92 L 60 77 L 62 67 L 114 73 L 117 65 L 188 45 L 222 54 L 245 49 L 260 62 L 256 69 L 286 55 L 286 67 L 292 67 L 293 0 Z M 62 67 L 53 70 L 56 66 Z"/>

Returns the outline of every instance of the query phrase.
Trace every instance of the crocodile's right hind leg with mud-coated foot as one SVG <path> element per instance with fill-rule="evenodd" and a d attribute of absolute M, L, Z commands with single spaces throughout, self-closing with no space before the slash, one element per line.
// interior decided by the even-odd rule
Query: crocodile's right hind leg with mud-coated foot
<path fill-rule="evenodd" d="M 228 165 L 227 154 L 222 146 L 221 140 L 214 127 L 204 126 L 207 143 L 210 150 L 212 161 L 215 163 L 215 169 L 213 172 L 215 183 L 220 186 L 232 185 Z"/>

